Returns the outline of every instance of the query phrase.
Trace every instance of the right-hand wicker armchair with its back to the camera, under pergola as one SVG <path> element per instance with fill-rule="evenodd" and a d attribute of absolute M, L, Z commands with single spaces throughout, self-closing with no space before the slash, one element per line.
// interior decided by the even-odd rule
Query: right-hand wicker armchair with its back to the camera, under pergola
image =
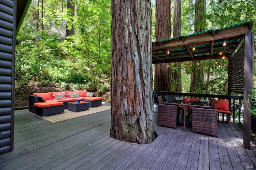
<path fill-rule="evenodd" d="M 192 107 L 192 131 L 218 137 L 217 110 Z"/>

